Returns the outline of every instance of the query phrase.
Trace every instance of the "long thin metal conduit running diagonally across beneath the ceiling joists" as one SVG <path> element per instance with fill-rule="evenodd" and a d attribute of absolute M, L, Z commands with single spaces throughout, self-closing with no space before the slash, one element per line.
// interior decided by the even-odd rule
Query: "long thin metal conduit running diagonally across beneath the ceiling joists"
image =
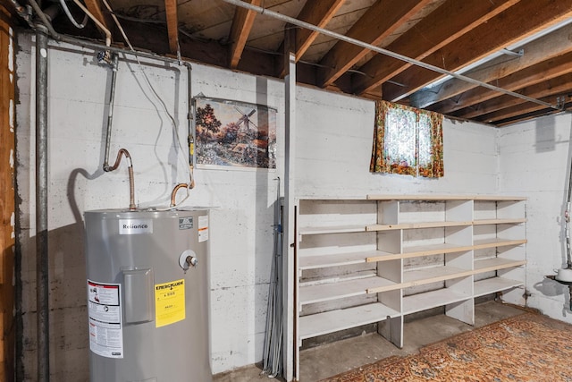
<path fill-rule="evenodd" d="M 441 74 L 450 75 L 451 77 L 457 78 L 458 80 L 467 81 L 467 82 L 473 83 L 475 85 L 481 86 L 481 87 L 486 88 L 486 89 L 498 91 L 500 93 L 507 94 L 507 95 L 512 96 L 512 97 L 521 98 L 521 99 L 524 99 L 528 102 L 533 102 L 534 104 L 551 107 L 551 108 L 556 109 L 556 110 L 561 110 L 561 108 L 559 106 L 552 105 L 552 104 L 550 104 L 548 102 L 544 102 L 540 99 L 530 98 L 530 97 L 527 97 L 525 95 L 518 94 L 514 91 L 502 89 L 498 86 L 491 85 L 490 83 L 478 81 L 478 80 L 472 79 L 470 77 L 467 77 L 463 74 L 459 74 L 458 72 L 450 72 L 450 71 L 448 71 L 446 69 L 442 69 L 438 66 L 434 66 L 432 64 L 426 64 L 423 61 L 418 61 L 418 60 L 410 58 L 406 55 L 400 55 L 399 53 L 391 52 L 390 50 L 384 49 L 383 47 L 375 47 L 374 45 L 367 44 L 366 42 L 360 41 L 356 38 L 349 38 L 348 36 L 341 35 L 340 33 L 332 32 L 331 30 L 325 30 L 324 28 L 317 27 L 314 24 L 310 24 L 306 21 L 300 21 L 300 20 L 295 19 L 293 17 L 286 16 L 282 13 L 276 13 L 276 12 L 270 11 L 268 9 L 265 9 L 265 8 L 257 6 L 257 5 L 248 4 L 248 3 L 245 3 L 241 0 L 223 0 L 223 2 L 228 3 L 228 4 L 233 4 L 236 6 L 240 6 L 242 8 L 247 8 L 251 11 L 254 11 L 254 12 L 257 12 L 260 14 L 266 14 L 270 17 L 273 17 L 274 19 L 278 19 L 280 21 L 285 21 L 287 23 L 297 25 L 297 26 L 302 27 L 302 28 L 306 28 L 307 30 L 314 30 L 316 32 L 324 34 L 325 36 L 329 36 L 331 38 L 336 38 L 336 39 L 339 39 L 341 41 L 348 42 L 349 44 L 357 45 L 358 47 L 365 47 L 366 49 L 370 49 L 374 52 L 381 53 L 382 55 L 389 55 L 390 57 L 404 61 L 408 64 L 414 64 L 416 66 L 428 69 L 428 70 L 433 71 L 433 72 L 438 72 Z"/>

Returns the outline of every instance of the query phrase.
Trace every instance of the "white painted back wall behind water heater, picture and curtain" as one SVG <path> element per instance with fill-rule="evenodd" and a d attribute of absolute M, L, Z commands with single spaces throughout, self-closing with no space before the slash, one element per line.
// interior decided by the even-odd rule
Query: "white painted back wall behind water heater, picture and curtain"
<path fill-rule="evenodd" d="M 23 282 L 25 380 L 36 376 L 34 45 L 19 37 L 17 106 L 19 240 Z M 101 170 L 110 72 L 89 50 L 49 49 L 49 245 L 51 372 L 55 380 L 88 376 L 84 211 L 124 208 L 127 170 Z M 147 60 L 146 60 L 147 61 Z M 145 64 L 186 140 L 186 71 Z M 187 203 L 211 212 L 211 329 L 214 373 L 262 359 L 273 250 L 273 203 L 282 177 L 282 81 L 194 64 L 192 93 L 265 104 L 278 110 L 277 170 L 198 169 Z M 369 173 L 374 103 L 319 89 L 297 89 L 296 196 L 354 197 L 367 193 L 497 193 L 497 132 L 477 123 L 444 123 L 445 176 L 428 180 Z M 184 153 L 170 120 L 130 57 L 119 65 L 112 154 L 130 150 L 141 207 L 166 206 L 175 183 L 186 182 Z M 181 159 L 182 158 L 182 159 Z M 283 178 L 283 177 L 282 177 Z"/>

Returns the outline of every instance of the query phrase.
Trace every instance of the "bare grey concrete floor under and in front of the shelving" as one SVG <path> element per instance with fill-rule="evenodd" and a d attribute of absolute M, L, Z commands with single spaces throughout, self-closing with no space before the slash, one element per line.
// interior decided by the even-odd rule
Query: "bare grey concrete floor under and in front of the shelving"
<path fill-rule="evenodd" d="M 475 305 L 475 327 L 483 327 L 503 318 L 509 318 L 522 313 L 516 307 L 501 302 L 486 301 Z M 381 335 L 366 334 L 324 344 L 300 352 L 300 382 L 315 382 L 332 377 L 343 371 L 379 361 L 391 355 L 408 355 L 425 346 L 441 341 L 451 335 L 467 332 L 474 327 L 464 324 L 454 318 L 437 315 L 419 318 L 405 324 L 404 346 L 402 349 L 391 344 Z M 248 366 L 231 372 L 217 374 L 214 382 L 250 382 L 270 381 L 260 375 L 257 366 Z"/>

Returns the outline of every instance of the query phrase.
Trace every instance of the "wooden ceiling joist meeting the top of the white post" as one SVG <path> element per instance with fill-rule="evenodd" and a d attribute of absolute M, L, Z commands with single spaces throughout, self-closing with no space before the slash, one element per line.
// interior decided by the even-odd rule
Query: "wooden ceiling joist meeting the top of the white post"
<path fill-rule="evenodd" d="M 320 1 L 308 1 L 304 8 L 300 11 L 298 15 L 298 20 L 305 21 L 312 25 L 315 25 L 320 28 L 325 28 L 325 26 L 330 22 L 335 16 L 336 13 L 341 8 L 341 5 L 344 4 L 345 0 L 320 0 Z M 296 55 L 296 62 L 299 62 L 299 59 L 306 53 L 307 48 L 312 45 L 317 38 L 319 32 L 314 30 L 307 30 L 307 29 L 296 29 L 296 37 L 295 37 L 295 47 L 294 47 L 294 54 Z M 278 49 L 279 52 L 284 50 L 284 46 Z M 281 60 L 278 63 L 277 73 L 279 73 L 279 77 L 282 78 L 285 75 L 285 68 L 284 68 L 284 60 Z"/>

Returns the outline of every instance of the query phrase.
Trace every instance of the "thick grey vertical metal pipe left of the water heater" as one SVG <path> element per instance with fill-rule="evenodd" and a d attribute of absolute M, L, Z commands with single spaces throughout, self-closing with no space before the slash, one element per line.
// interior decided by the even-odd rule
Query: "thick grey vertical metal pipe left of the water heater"
<path fill-rule="evenodd" d="M 36 29 L 36 304 L 38 382 L 50 379 L 47 250 L 47 28 Z"/>

